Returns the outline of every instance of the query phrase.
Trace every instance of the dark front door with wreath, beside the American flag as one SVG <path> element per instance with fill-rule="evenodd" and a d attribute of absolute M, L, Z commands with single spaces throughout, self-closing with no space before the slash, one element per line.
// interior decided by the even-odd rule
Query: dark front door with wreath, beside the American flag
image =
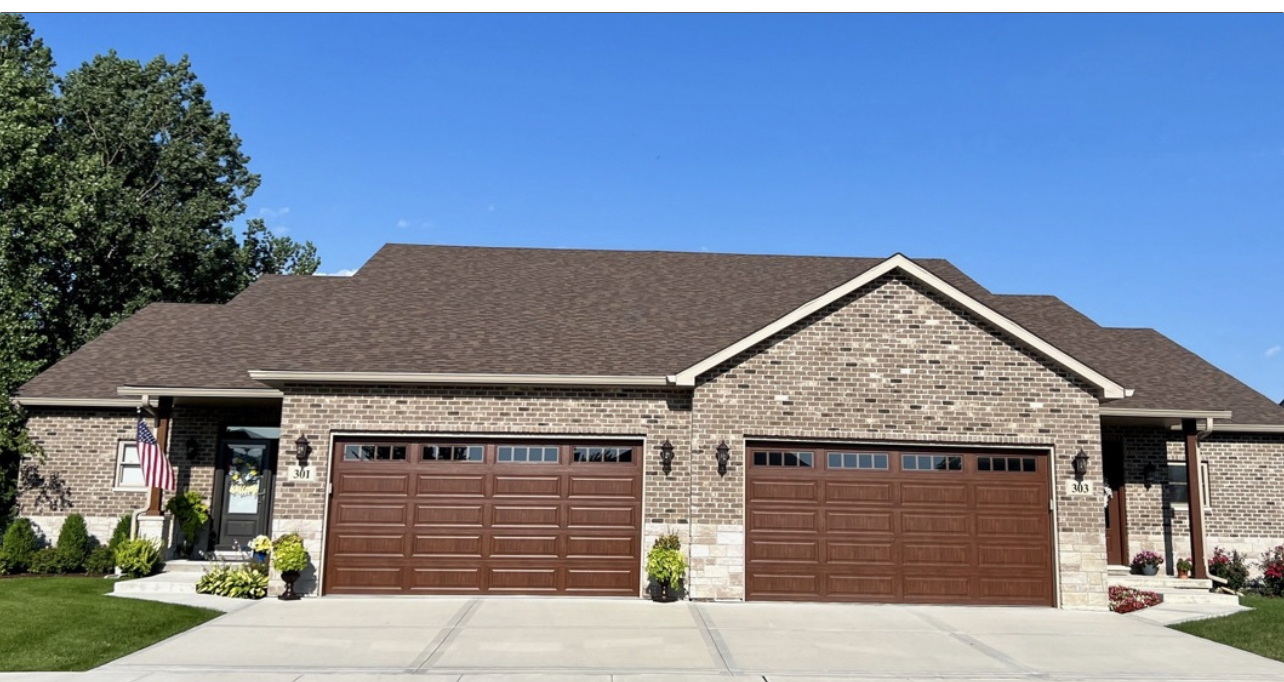
<path fill-rule="evenodd" d="M 216 474 L 214 548 L 244 548 L 254 536 L 267 534 L 275 446 L 275 441 L 223 441 Z"/>

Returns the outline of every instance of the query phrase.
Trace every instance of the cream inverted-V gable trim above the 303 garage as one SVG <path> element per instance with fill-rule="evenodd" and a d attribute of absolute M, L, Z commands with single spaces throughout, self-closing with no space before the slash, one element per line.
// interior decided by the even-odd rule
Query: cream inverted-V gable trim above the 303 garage
<path fill-rule="evenodd" d="M 998 311 L 967 295 L 953 284 L 937 277 L 924 267 L 919 266 L 914 261 L 910 261 L 909 258 L 907 258 L 900 253 L 892 256 L 891 258 L 887 258 L 886 261 L 878 263 L 874 267 L 871 267 L 869 270 L 862 272 L 860 275 L 847 280 L 842 285 L 826 292 L 819 298 L 804 303 L 802 306 L 795 308 L 785 317 L 781 317 L 779 320 L 764 326 L 763 329 L 759 329 L 758 331 L 750 334 L 749 337 L 745 337 L 743 339 L 733 343 L 732 345 L 728 345 L 727 348 L 723 348 L 722 351 L 709 356 L 707 358 L 700 361 L 698 363 L 692 365 L 691 367 L 687 367 L 686 370 L 678 372 L 675 378 L 677 384 L 683 387 L 696 385 L 696 378 L 700 376 L 701 374 L 716 367 L 718 365 L 725 362 L 727 360 L 731 360 L 732 357 L 736 357 L 737 354 L 754 347 L 755 344 L 767 340 L 773 334 L 779 333 L 781 330 L 788 328 L 794 322 L 802 320 L 808 315 L 811 315 L 813 312 L 828 306 L 829 303 L 833 303 L 835 301 L 869 284 L 871 281 L 874 281 L 876 279 L 891 272 L 892 270 L 900 270 L 901 272 L 905 272 L 907 275 L 917 279 L 918 281 L 926 284 L 927 286 L 931 286 L 932 289 L 941 293 L 950 301 L 958 303 L 963 308 L 968 310 L 977 317 L 990 322 L 991 325 L 1005 331 L 1007 334 L 1011 334 L 1012 337 L 1026 343 L 1027 345 L 1030 345 L 1039 353 L 1044 354 L 1053 362 L 1066 367 L 1071 372 L 1085 379 L 1088 383 L 1100 388 L 1102 397 L 1104 399 L 1118 399 L 1127 397 L 1127 389 L 1125 389 L 1122 385 L 1117 384 L 1116 381 L 1112 381 L 1111 379 L 1106 378 L 1106 375 L 1089 367 L 1088 365 L 1084 365 L 1079 360 L 1075 360 L 1068 353 L 1061 351 L 1055 345 L 1036 337 L 1026 328 L 1004 317 L 1003 315 L 999 315 Z"/>

